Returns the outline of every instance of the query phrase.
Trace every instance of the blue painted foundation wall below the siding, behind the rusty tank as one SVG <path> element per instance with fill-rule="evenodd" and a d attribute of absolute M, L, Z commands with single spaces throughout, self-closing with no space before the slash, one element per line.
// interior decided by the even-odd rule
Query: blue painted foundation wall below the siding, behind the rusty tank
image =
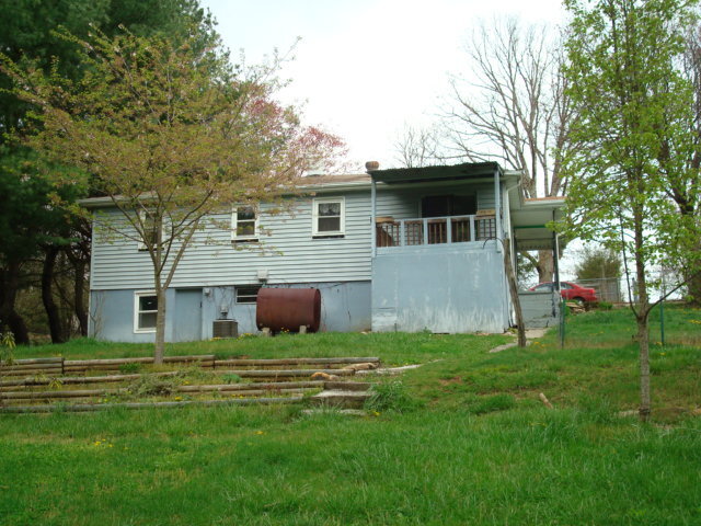
<path fill-rule="evenodd" d="M 268 287 L 319 288 L 321 327 L 324 332 L 353 332 L 370 329 L 370 282 L 271 284 Z M 93 290 L 90 297 L 90 334 L 113 342 L 152 342 L 154 333 L 134 331 L 134 294 L 140 289 Z M 194 296 L 200 298 L 199 306 Z M 187 298 L 186 300 L 183 300 Z M 165 340 L 189 341 L 193 334 L 203 340 L 212 336 L 212 321 L 235 320 L 239 334 L 257 333 L 255 304 L 237 304 L 235 287 L 169 289 L 166 293 Z M 182 321 L 187 319 L 187 331 Z M 192 325 L 200 323 L 199 331 Z"/>

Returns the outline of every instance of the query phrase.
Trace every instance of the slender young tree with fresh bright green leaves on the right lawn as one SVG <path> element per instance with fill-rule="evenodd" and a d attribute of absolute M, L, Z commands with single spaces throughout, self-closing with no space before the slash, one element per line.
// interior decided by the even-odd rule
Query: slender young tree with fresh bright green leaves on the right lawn
<path fill-rule="evenodd" d="M 637 283 L 631 305 L 640 345 L 640 416 L 651 412 L 650 271 L 688 259 L 698 221 L 675 209 L 671 182 L 698 181 L 687 160 L 691 87 L 676 67 L 694 2 L 566 0 L 570 94 L 578 148 L 564 158 L 566 231 L 630 254 Z"/>

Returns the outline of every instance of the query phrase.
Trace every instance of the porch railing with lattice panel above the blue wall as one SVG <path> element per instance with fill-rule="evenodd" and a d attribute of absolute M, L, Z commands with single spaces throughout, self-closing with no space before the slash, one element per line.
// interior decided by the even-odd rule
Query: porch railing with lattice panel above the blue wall
<path fill-rule="evenodd" d="M 379 218 L 376 229 L 378 248 L 452 244 L 495 238 L 496 219 L 494 216 Z"/>

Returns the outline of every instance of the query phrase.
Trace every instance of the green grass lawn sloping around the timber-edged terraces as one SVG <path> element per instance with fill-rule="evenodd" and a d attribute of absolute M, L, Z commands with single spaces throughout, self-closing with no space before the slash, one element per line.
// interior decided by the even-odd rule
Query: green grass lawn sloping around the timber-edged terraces
<path fill-rule="evenodd" d="M 319 334 L 169 354 L 380 356 L 366 416 L 297 407 L 0 415 L 2 525 L 699 525 L 701 311 L 668 308 L 653 422 L 627 310 L 587 312 L 527 350 L 505 336 Z M 657 313 L 652 341 L 659 340 Z M 146 355 L 78 341 L 16 357 Z M 555 409 L 539 400 L 544 393 Z"/>

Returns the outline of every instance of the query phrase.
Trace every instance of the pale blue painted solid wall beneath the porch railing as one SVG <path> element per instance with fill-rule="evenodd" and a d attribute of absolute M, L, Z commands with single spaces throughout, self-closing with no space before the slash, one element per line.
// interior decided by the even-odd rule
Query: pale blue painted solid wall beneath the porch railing
<path fill-rule="evenodd" d="M 504 332 L 509 327 L 496 243 L 404 248 L 372 260 L 372 330 Z"/>

